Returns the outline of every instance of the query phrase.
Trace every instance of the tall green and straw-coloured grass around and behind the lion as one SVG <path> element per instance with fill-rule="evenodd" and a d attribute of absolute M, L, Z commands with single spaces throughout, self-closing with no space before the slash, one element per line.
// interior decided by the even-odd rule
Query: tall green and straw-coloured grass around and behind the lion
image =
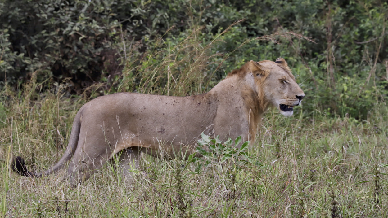
<path fill-rule="evenodd" d="M 226 57 L 211 53 L 216 41 L 203 44 L 199 30 L 193 28 L 177 44 L 159 39 L 142 57 L 132 55 L 135 45 L 126 50 L 130 58 L 123 75 L 113 78 L 105 92 L 185 96 L 208 90 L 215 83 L 208 66 L 220 65 Z M 67 81 L 44 93 L 39 92 L 42 85 L 33 76 L 23 93 L 2 91 L 0 190 L 7 217 L 388 216 L 383 103 L 371 109 L 375 116 L 368 121 L 329 118 L 318 110 L 313 117 L 296 113 L 287 118 L 270 110 L 249 151 L 251 162 L 260 164 L 247 163 L 239 170 L 217 161 L 169 161 L 143 154 L 134 181 L 121 178 L 109 163 L 68 189 L 61 181 L 64 171 L 42 179 L 10 172 L 11 154 L 24 156 L 33 170 L 49 168 L 63 154 L 85 96 L 94 98 L 99 89 L 69 98 Z"/>

